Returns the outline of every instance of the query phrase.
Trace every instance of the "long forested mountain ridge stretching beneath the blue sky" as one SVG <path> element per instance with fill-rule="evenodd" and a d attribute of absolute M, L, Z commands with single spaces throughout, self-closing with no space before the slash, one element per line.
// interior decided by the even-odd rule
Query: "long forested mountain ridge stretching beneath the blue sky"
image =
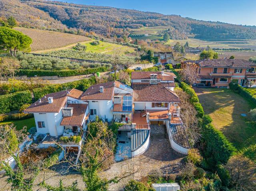
<path fill-rule="evenodd" d="M 11 2 L 17 2 L 18 0 L 4 1 L 11 4 Z M 68 28 L 81 28 L 107 37 L 129 35 L 130 29 L 142 26 L 168 26 L 169 29 L 166 32 L 173 39 L 185 39 L 187 37 L 198 39 L 256 39 L 255 26 L 200 21 L 178 15 L 163 15 L 154 12 L 69 4 L 58 1 L 22 0 L 21 2 L 19 4 L 23 5 L 24 10 L 32 8 L 41 10 L 49 16 L 48 19 L 54 18 L 56 24 L 61 22 Z M 10 6 L 12 7 L 14 4 Z M 2 15 L 1 12 L 0 8 L 0 16 Z M 8 10 L 5 10 L 5 12 L 8 15 L 14 14 Z M 19 17 L 18 13 L 19 11 L 14 16 Z M 19 18 L 21 21 L 17 20 L 21 23 L 23 23 L 22 20 L 28 20 L 27 18 L 30 18 L 31 14 L 30 11 L 27 14 L 27 16 L 22 16 L 24 18 Z"/>

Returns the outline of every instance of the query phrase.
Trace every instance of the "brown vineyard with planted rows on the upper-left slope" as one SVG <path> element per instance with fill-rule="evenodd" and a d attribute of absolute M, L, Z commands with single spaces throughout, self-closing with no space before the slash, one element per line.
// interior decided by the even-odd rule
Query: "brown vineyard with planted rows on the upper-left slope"
<path fill-rule="evenodd" d="M 48 31 L 48 30 L 20 28 L 20 27 L 16 27 L 14 29 L 32 38 L 33 40 L 31 44 L 32 51 L 55 49 L 55 48 L 64 47 L 70 44 L 75 44 L 78 42 L 90 40 L 90 38 L 85 36 L 74 35 L 74 34 L 63 33 L 63 32 L 54 32 L 54 31 Z"/>

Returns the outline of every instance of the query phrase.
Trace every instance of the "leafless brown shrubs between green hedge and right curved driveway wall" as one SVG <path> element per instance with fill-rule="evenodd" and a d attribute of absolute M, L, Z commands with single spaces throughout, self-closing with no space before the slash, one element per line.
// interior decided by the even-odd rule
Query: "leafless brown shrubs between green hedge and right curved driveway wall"
<path fill-rule="evenodd" d="M 196 117 L 196 110 L 194 106 L 190 103 L 190 96 L 182 91 L 182 89 L 175 89 L 175 93 L 180 98 L 180 116 L 182 122 L 186 126 L 186 134 L 188 135 L 189 142 L 192 146 L 196 144 L 201 138 L 201 126 L 198 123 L 198 118 Z"/>

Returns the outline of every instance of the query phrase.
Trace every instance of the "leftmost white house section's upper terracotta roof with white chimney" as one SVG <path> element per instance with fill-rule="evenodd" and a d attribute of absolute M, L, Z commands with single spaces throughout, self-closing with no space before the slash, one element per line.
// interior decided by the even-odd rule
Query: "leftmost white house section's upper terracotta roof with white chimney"
<path fill-rule="evenodd" d="M 50 93 L 41 98 L 41 102 L 37 100 L 26 108 L 23 112 L 36 113 L 36 112 L 59 112 L 65 105 L 67 100 L 67 91 L 60 91 L 56 93 Z M 48 103 L 48 97 L 53 97 L 53 102 Z"/>

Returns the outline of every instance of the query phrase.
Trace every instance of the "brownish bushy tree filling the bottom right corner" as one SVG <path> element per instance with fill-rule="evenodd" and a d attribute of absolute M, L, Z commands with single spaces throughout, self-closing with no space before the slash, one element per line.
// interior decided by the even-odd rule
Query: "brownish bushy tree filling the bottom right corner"
<path fill-rule="evenodd" d="M 231 186 L 235 191 L 256 190 L 256 164 L 242 156 L 232 156 L 225 168 L 231 177 Z M 232 189 L 233 190 L 233 189 Z"/>

